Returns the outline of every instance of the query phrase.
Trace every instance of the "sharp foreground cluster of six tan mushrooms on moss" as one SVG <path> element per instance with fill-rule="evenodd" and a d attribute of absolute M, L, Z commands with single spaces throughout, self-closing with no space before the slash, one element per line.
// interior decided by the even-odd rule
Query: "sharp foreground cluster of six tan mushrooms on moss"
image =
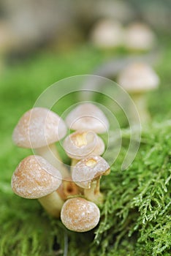
<path fill-rule="evenodd" d="M 66 136 L 67 129 L 72 133 Z M 110 173 L 101 155 L 104 142 L 99 133 L 107 132 L 106 116 L 91 103 L 81 103 L 66 120 L 47 108 L 32 108 L 18 121 L 12 139 L 17 146 L 34 149 L 12 175 L 16 195 L 37 199 L 48 214 L 76 232 L 93 229 L 99 222 L 98 205 L 104 200 L 100 178 Z M 63 148 L 71 159 L 66 167 L 56 148 L 64 138 Z"/>

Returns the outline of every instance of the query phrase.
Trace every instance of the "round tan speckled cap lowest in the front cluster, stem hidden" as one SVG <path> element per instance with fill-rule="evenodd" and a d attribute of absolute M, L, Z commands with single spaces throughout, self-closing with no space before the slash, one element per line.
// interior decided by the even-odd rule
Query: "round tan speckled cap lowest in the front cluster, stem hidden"
<path fill-rule="evenodd" d="M 61 221 L 72 231 L 86 232 L 99 222 L 100 211 L 95 203 L 82 197 L 66 200 L 61 209 Z"/>

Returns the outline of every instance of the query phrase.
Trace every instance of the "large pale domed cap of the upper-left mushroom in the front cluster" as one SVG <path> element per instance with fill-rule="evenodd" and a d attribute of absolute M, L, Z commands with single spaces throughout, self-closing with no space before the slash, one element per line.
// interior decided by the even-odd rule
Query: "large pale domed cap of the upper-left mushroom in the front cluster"
<path fill-rule="evenodd" d="M 18 121 L 12 138 L 22 148 L 41 148 L 66 135 L 66 124 L 47 108 L 32 108 Z"/>

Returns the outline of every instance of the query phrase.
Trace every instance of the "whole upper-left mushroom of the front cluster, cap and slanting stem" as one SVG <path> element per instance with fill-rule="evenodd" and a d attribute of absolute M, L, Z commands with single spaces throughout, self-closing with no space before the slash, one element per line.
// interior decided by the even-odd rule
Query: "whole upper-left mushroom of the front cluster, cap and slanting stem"
<path fill-rule="evenodd" d="M 32 108 L 20 118 L 12 138 L 17 146 L 34 148 L 36 154 L 61 170 L 65 177 L 69 173 L 61 163 L 55 142 L 64 138 L 66 130 L 66 124 L 56 113 L 47 108 Z"/>

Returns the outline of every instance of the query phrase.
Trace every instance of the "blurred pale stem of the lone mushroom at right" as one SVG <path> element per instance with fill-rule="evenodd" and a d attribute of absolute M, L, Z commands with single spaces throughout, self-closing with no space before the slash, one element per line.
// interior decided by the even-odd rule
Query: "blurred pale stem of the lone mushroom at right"
<path fill-rule="evenodd" d="M 137 112 L 139 113 L 140 121 L 142 121 L 142 123 L 147 123 L 148 121 L 150 121 L 151 117 L 150 114 L 148 113 L 145 95 L 142 93 L 132 93 L 131 97 L 132 100 L 134 101 L 134 104 L 137 107 Z M 133 111 L 134 110 L 132 110 L 132 112 Z M 132 118 L 134 119 L 134 116 L 132 116 Z"/>

